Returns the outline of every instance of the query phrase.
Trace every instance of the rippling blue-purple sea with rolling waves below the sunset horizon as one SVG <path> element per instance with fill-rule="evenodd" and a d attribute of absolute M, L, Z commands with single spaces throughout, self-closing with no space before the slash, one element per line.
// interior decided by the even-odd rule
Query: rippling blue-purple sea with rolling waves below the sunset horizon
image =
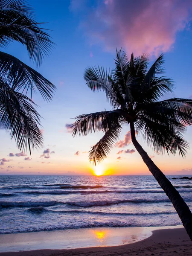
<path fill-rule="evenodd" d="M 172 180 L 192 210 L 192 180 Z M 152 176 L 0 176 L 0 234 L 181 224 Z"/>

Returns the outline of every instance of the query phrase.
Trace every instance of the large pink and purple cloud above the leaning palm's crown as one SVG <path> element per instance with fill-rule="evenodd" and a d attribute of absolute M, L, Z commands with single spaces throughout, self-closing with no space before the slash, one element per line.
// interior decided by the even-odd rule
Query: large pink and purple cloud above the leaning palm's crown
<path fill-rule="evenodd" d="M 80 3 L 73 0 L 73 5 Z M 104 0 L 85 8 L 82 26 L 90 44 L 107 50 L 124 47 L 129 53 L 159 55 L 172 49 L 177 32 L 187 28 L 190 0 Z"/>

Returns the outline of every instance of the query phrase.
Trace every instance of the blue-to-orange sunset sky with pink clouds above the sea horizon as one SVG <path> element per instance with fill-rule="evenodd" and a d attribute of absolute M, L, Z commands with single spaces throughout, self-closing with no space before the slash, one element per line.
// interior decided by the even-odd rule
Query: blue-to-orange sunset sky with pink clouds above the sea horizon
<path fill-rule="evenodd" d="M 128 55 L 148 53 L 151 63 L 165 54 L 166 76 L 175 81 L 175 91 L 164 96 L 192 98 L 192 1 L 190 0 L 29 0 L 36 20 L 55 47 L 41 67 L 30 60 L 26 48 L 12 43 L 4 52 L 38 70 L 57 87 L 52 102 L 37 93 L 44 147 L 26 153 L 18 151 L 9 132 L 0 129 L 0 175 L 150 175 L 131 143 L 129 127 L 122 129 L 119 142 L 108 158 L 93 167 L 88 160 L 90 147 L 102 132 L 87 137 L 70 134 L 67 124 L 75 116 L 111 110 L 103 92 L 92 92 L 83 79 L 88 66 L 114 67 L 116 48 Z M 137 140 L 166 175 L 192 175 L 192 127 L 184 135 L 190 149 L 185 158 L 178 154 L 158 155 Z"/>

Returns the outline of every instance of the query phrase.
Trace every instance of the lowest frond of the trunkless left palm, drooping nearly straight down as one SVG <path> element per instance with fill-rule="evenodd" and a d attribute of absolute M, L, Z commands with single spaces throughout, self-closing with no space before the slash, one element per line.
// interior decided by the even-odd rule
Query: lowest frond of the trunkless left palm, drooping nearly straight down
<path fill-rule="evenodd" d="M 43 136 L 38 128 L 40 115 L 33 107 L 34 102 L 18 93 L 0 78 L 0 123 L 10 131 L 11 138 L 17 142 L 19 150 L 43 146 Z"/>

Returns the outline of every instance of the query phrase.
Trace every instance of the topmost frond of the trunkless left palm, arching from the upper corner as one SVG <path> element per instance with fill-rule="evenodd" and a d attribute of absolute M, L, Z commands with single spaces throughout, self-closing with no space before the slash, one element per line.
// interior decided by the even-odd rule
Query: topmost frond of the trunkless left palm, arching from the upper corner
<path fill-rule="evenodd" d="M 32 19 L 32 12 L 25 1 L 2 1 L 0 8 L 0 44 L 18 41 L 26 46 L 29 58 L 39 66 L 44 56 L 49 55 L 53 43 L 42 23 Z"/>

